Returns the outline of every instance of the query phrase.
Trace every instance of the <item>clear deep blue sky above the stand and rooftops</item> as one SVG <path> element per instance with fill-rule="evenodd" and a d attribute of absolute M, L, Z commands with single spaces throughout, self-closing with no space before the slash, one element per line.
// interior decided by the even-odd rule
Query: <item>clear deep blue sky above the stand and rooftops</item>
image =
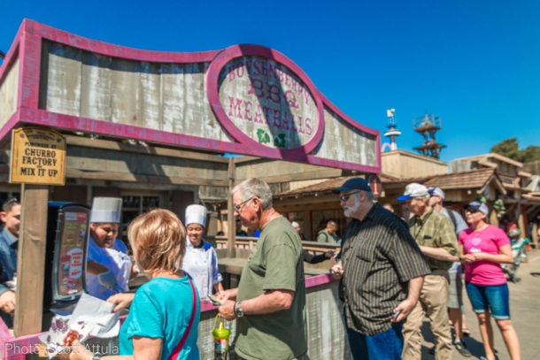
<path fill-rule="evenodd" d="M 508 137 L 540 145 L 540 2 L 4 1 L 0 50 L 24 18 L 148 50 L 237 43 L 292 59 L 352 119 L 382 133 L 396 109 L 400 149 L 413 118 L 441 117 L 442 159 L 490 151 Z M 386 139 L 382 138 L 382 142 Z"/>

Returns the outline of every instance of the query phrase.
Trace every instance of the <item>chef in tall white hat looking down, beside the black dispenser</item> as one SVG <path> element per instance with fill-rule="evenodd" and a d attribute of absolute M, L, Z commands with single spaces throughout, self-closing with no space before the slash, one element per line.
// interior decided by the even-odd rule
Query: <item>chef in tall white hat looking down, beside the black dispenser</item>
<path fill-rule="evenodd" d="M 89 295 L 102 300 L 127 291 L 127 281 L 136 274 L 136 267 L 121 251 L 125 245 L 116 238 L 121 209 L 118 197 L 95 197 L 92 203 L 86 288 Z"/>

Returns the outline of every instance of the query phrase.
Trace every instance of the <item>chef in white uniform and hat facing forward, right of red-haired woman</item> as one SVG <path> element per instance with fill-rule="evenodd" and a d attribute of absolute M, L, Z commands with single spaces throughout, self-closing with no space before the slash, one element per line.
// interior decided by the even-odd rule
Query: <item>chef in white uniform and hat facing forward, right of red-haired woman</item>
<path fill-rule="evenodd" d="M 195 281 L 200 297 L 212 295 L 213 291 L 223 291 L 223 277 L 218 270 L 218 256 L 212 244 L 203 240 L 206 226 L 206 208 L 189 205 L 186 208 L 186 255 L 182 270 L 188 272 Z"/>

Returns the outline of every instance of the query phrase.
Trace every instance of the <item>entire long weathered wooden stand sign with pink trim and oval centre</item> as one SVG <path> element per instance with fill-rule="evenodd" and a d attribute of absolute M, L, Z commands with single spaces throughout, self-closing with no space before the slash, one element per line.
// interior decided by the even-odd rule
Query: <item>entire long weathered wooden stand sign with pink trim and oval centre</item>
<path fill-rule="evenodd" d="M 138 50 L 25 19 L 0 68 L 0 102 L 0 141 L 30 123 L 381 170 L 379 131 L 337 109 L 288 57 L 257 45 Z"/>

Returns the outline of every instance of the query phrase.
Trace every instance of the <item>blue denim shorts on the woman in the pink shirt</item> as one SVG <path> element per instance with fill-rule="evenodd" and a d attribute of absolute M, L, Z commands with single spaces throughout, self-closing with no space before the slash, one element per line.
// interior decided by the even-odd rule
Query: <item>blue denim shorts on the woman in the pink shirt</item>
<path fill-rule="evenodd" d="M 467 295 L 474 312 L 482 314 L 491 312 L 491 317 L 496 320 L 510 318 L 510 304 L 508 301 L 508 285 L 479 285 L 466 282 Z"/>

